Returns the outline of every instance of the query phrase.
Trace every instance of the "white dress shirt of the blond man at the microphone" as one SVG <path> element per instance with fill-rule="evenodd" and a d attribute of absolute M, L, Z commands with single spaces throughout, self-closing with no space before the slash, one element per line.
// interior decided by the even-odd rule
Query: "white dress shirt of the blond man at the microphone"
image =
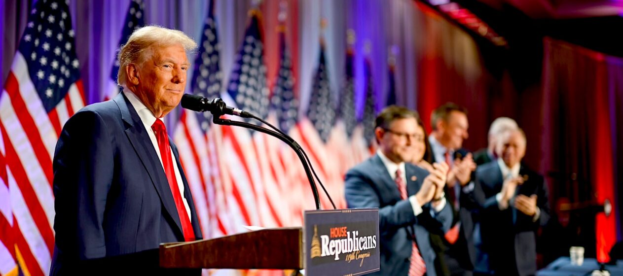
<path fill-rule="evenodd" d="M 156 150 L 156 155 L 158 155 L 158 159 L 160 159 L 160 164 L 162 165 L 162 168 L 164 171 L 164 164 L 162 163 L 162 156 L 160 156 L 160 148 L 158 147 L 158 140 L 156 139 L 156 133 L 151 129 L 151 126 L 154 124 L 154 122 L 156 120 L 162 120 L 162 118 L 156 118 L 154 114 L 151 113 L 151 110 L 145 107 L 145 105 L 141 102 L 141 100 L 139 100 L 138 97 L 136 97 L 136 95 L 134 95 L 134 93 L 132 93 L 130 90 L 124 89 L 123 93 L 125 94 L 126 97 L 128 97 L 128 100 L 130 100 L 132 107 L 134 107 L 134 109 L 136 110 L 136 113 L 138 113 L 138 117 L 141 118 L 141 121 L 143 122 L 143 126 L 145 126 L 145 130 L 147 131 L 147 134 L 150 136 L 151 144 L 153 145 L 154 150 Z M 188 201 L 186 201 L 186 197 L 184 197 L 184 182 L 182 181 L 182 176 L 179 173 L 179 168 L 177 166 L 178 164 L 177 159 L 175 155 L 173 155 L 173 150 L 171 149 L 170 146 L 169 146 L 169 150 L 171 151 L 171 159 L 173 159 L 172 160 L 173 171 L 175 171 L 175 179 L 178 182 L 179 193 L 182 196 L 182 201 L 184 202 L 184 207 L 186 208 L 186 214 L 188 214 L 188 220 L 191 221 L 192 220 L 191 208 L 188 206 Z M 173 193 L 173 191 L 171 191 L 171 193 Z"/>

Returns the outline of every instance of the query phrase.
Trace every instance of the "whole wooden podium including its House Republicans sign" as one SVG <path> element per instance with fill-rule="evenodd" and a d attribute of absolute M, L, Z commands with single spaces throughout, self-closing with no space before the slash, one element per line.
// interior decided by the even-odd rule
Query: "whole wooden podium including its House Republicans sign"
<path fill-rule="evenodd" d="M 305 269 L 305 275 L 379 271 L 377 208 L 305 211 L 305 227 L 173 242 L 159 247 L 168 269 Z"/>

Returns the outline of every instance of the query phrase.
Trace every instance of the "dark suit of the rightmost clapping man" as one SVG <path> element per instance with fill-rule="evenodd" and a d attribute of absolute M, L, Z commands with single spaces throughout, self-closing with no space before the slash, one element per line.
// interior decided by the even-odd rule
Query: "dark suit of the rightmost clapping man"
<path fill-rule="evenodd" d="M 533 275 L 536 273 L 536 231 L 549 220 L 548 189 L 540 174 L 521 166 L 528 179 L 515 194 L 536 194 L 540 209 L 537 221 L 509 203 L 500 210 L 495 195 L 502 191 L 502 171 L 498 162 L 478 167 L 474 196 L 482 204 L 480 232 L 482 250 L 488 255 L 489 270 L 495 275 Z"/>

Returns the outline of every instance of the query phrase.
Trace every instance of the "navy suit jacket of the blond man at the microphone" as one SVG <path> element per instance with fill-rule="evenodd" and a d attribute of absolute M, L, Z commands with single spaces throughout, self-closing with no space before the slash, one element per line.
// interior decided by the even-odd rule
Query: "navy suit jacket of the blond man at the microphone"
<path fill-rule="evenodd" d="M 193 196 L 169 138 L 201 239 Z M 82 108 L 67 121 L 54 154 L 55 250 L 50 275 L 115 274 L 118 265 L 159 274 L 158 245 L 183 242 L 169 184 L 128 98 Z M 196 270 L 197 274 L 199 270 Z M 174 272 L 178 274 L 178 272 Z"/>

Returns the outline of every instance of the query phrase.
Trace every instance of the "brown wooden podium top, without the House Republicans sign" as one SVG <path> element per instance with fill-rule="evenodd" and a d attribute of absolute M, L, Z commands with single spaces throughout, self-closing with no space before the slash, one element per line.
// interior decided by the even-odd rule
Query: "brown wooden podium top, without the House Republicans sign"
<path fill-rule="evenodd" d="M 194 269 L 303 269 L 303 229 L 262 229 L 194 242 L 161 244 L 160 267 Z"/>

